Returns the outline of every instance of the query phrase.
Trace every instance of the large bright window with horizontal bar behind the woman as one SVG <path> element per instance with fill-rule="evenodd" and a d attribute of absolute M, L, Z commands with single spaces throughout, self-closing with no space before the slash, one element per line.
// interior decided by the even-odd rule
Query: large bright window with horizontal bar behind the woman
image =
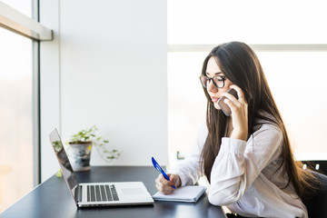
<path fill-rule="evenodd" d="M 326 3 L 168 0 L 168 151 L 192 147 L 205 117 L 198 76 L 213 46 L 252 45 L 281 111 L 296 157 L 325 159 Z"/>

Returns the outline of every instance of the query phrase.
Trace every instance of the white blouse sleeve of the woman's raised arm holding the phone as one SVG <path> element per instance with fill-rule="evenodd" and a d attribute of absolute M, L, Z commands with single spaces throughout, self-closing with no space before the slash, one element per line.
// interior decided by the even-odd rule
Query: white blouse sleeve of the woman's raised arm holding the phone
<path fill-rule="evenodd" d="M 250 139 L 222 139 L 211 173 L 208 199 L 214 205 L 237 202 L 273 159 L 279 155 L 282 131 L 273 124 L 263 124 Z"/>

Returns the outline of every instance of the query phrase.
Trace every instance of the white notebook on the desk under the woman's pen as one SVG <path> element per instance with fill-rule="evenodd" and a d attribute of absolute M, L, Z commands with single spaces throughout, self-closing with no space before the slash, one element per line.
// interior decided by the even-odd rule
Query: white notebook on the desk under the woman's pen
<path fill-rule="evenodd" d="M 189 185 L 177 188 L 170 194 L 154 193 L 153 198 L 155 201 L 168 201 L 168 202 L 187 202 L 196 203 L 197 200 L 203 195 L 206 187 L 199 185 Z"/>

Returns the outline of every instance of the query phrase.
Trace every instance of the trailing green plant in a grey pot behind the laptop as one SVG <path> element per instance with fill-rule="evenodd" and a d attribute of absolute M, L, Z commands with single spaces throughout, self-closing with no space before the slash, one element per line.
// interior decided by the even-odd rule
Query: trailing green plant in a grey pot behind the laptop
<path fill-rule="evenodd" d="M 90 169 L 90 157 L 93 145 L 98 150 L 105 162 L 120 156 L 118 150 L 110 151 L 108 149 L 108 140 L 104 140 L 101 136 L 96 136 L 98 131 L 96 125 L 89 129 L 84 129 L 74 134 L 69 142 L 70 162 L 72 163 L 74 171 L 87 171 Z"/>

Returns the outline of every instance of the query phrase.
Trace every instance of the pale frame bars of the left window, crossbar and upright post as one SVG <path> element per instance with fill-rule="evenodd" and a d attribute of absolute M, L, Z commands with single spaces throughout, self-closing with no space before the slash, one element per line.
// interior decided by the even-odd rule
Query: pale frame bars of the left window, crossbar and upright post
<path fill-rule="evenodd" d="M 32 18 L 0 2 L 0 27 L 32 40 L 33 71 L 33 183 L 41 183 L 40 42 L 54 40 L 53 30 L 39 23 L 39 0 L 31 0 Z"/>

